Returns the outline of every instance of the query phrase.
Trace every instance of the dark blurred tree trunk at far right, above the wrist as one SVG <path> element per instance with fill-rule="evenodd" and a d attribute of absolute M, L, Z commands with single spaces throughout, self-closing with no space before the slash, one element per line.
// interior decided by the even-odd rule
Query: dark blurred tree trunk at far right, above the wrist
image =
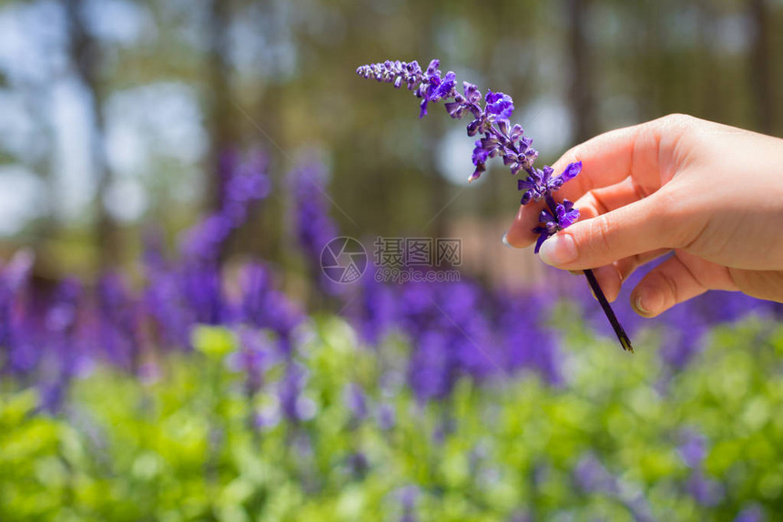
<path fill-rule="evenodd" d="M 775 90 L 772 78 L 772 54 L 769 52 L 769 7 L 766 0 L 749 0 L 748 8 L 753 20 L 753 43 L 750 47 L 750 81 L 753 107 L 756 109 L 758 130 L 767 134 L 775 126 Z"/>

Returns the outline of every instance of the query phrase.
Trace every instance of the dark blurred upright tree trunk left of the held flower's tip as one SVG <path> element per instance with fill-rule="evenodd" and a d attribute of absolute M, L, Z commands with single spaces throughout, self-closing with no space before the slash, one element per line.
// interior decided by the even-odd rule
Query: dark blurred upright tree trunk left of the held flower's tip
<path fill-rule="evenodd" d="M 227 173 L 221 168 L 221 157 L 237 145 L 231 124 L 231 66 L 229 64 L 229 0 L 211 0 L 208 7 L 208 132 L 209 157 L 207 162 L 207 193 L 205 206 L 219 210 L 225 197 Z"/>

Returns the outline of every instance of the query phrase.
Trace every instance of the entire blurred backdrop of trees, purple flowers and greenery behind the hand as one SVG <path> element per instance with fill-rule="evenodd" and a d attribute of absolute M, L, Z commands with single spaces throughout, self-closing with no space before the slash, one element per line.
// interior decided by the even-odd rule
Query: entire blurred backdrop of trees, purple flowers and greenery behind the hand
<path fill-rule="evenodd" d="M 541 166 L 783 136 L 781 50 L 783 0 L 0 0 L 0 520 L 778 519 L 783 305 L 625 289 L 622 352 L 463 122 L 355 71 L 440 58 Z M 335 283 L 341 235 L 459 280 Z"/>

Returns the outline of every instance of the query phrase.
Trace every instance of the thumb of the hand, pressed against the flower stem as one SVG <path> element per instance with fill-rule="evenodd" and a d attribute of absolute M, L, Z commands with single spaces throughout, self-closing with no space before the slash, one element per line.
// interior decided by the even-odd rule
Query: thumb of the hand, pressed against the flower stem
<path fill-rule="evenodd" d="M 544 241 L 541 261 L 567 270 L 585 270 L 641 252 L 677 248 L 682 227 L 661 191 L 589 220 L 577 221 Z"/>

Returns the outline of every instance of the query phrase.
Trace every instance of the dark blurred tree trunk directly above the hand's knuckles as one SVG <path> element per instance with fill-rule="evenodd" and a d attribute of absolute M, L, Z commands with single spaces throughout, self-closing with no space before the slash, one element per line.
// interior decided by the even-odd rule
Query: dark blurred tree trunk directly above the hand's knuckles
<path fill-rule="evenodd" d="M 569 17 L 568 49 L 571 55 L 571 85 L 568 101 L 575 118 L 574 138 L 585 141 L 595 135 L 595 96 L 593 93 L 593 56 L 585 26 L 591 0 L 567 0 Z"/>

